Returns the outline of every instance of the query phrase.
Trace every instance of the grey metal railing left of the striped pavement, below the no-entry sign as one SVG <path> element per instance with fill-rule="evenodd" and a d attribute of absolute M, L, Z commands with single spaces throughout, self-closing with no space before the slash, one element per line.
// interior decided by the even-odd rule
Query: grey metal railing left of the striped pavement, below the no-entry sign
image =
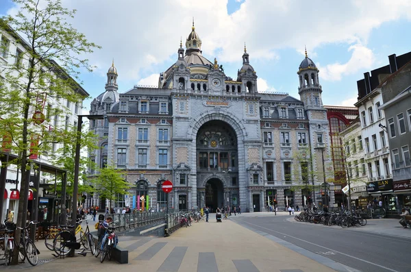
<path fill-rule="evenodd" d="M 106 214 L 105 218 L 112 217 L 119 230 L 129 230 L 152 223 L 164 223 L 164 212 L 134 212 L 129 214 Z"/>

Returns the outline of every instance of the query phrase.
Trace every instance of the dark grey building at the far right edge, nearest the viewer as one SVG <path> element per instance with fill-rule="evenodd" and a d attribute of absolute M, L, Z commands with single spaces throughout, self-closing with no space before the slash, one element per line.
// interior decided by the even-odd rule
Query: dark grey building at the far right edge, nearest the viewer
<path fill-rule="evenodd" d="M 411 61 L 380 84 L 397 212 L 411 208 Z"/>

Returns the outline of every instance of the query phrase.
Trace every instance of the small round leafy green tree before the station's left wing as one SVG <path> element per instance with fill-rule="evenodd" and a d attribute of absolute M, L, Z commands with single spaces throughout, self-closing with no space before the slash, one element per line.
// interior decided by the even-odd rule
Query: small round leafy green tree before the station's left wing
<path fill-rule="evenodd" d="M 123 171 L 114 169 L 114 166 L 101 168 L 99 172 L 93 178 L 92 183 L 101 198 L 110 200 L 108 208 L 111 209 L 111 202 L 116 199 L 116 195 L 127 195 L 127 189 L 130 188 L 130 184 L 124 180 Z"/>

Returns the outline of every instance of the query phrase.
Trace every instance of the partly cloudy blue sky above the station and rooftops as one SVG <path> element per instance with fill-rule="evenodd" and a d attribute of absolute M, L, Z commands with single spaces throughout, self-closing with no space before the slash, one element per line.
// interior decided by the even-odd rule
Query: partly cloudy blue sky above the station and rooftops
<path fill-rule="evenodd" d="M 44 0 L 40 0 L 44 1 Z M 119 92 L 158 85 L 191 32 L 203 55 L 236 79 L 247 45 L 259 92 L 287 92 L 299 99 L 297 71 L 308 57 L 319 68 L 323 103 L 353 106 L 357 80 L 388 64 L 388 55 L 411 51 L 411 0 L 62 0 L 77 13 L 73 27 L 102 49 L 84 58 L 96 66 L 80 78 L 90 97 L 104 92 L 107 71 L 119 73 Z M 0 16 L 14 14 L 0 0 Z M 90 107 L 90 99 L 84 103 Z"/>

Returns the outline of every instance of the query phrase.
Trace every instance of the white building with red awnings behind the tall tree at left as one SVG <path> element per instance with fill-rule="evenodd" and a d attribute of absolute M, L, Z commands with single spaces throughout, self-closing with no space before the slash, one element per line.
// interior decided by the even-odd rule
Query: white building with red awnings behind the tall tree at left
<path fill-rule="evenodd" d="M 28 65 L 28 60 L 25 58 L 25 52 L 27 49 L 30 48 L 30 45 L 25 42 L 25 40 L 16 34 L 12 29 L 0 29 L 0 71 L 1 73 L 6 73 L 6 66 L 10 66 L 13 64 L 18 64 L 21 66 Z M 47 64 L 42 66 L 42 72 L 44 73 L 52 73 L 56 77 L 62 76 L 67 77 L 68 75 L 62 70 L 62 67 L 59 66 L 53 60 L 49 60 Z M 0 79 L 3 79 L 4 74 L 0 74 Z M 82 88 L 79 84 L 75 87 L 76 91 L 84 95 L 84 97 L 88 96 L 86 90 Z M 44 94 L 42 94 L 44 95 Z M 71 103 L 70 101 L 66 101 L 65 99 L 55 99 L 55 97 L 49 97 L 47 95 L 43 97 L 36 97 L 36 101 L 42 101 L 42 107 L 38 106 L 37 109 L 41 108 L 42 113 L 47 116 L 47 119 L 51 119 L 51 121 L 44 121 L 41 123 L 44 126 L 45 131 L 49 132 L 53 129 L 59 129 L 62 127 L 67 127 L 68 125 L 76 125 L 77 121 L 77 114 L 81 114 L 82 111 L 82 103 Z M 49 116 L 50 113 L 48 109 L 50 108 L 62 108 L 66 107 L 66 115 L 65 116 Z M 33 114 L 35 107 L 29 109 L 29 113 Z M 1 117 L 1 116 L 0 116 Z M 7 157 L 7 153 L 10 152 L 10 149 L 6 149 L 7 140 L 3 135 L 1 136 L 1 163 L 5 163 L 5 158 Z M 41 140 L 40 140 L 41 143 Z M 61 147 L 60 143 L 51 143 L 51 150 L 56 151 Z M 49 154 L 41 153 L 38 155 L 30 156 L 30 159 L 33 161 L 34 165 L 36 165 L 36 171 L 32 171 L 29 179 L 29 195 L 28 195 L 28 206 L 27 209 L 29 210 L 30 214 L 38 214 L 44 208 L 48 208 L 49 217 L 48 221 L 57 221 L 58 214 L 61 212 L 59 210 L 60 206 L 60 199 L 58 198 L 57 194 L 53 189 L 49 187 L 51 184 L 55 184 L 55 174 L 60 175 L 60 170 L 58 171 L 55 169 L 54 166 L 50 165 L 49 162 Z M 14 154 L 10 154 L 10 160 L 15 159 Z M 3 164 L 4 165 L 4 164 Z M 47 171 L 40 171 L 37 166 L 42 165 L 43 170 L 47 169 Z M 16 167 L 16 165 L 11 164 L 8 166 L 7 169 L 1 167 L 1 171 L 4 171 L 5 179 L 0 180 L 0 188 L 5 188 L 3 193 L 2 201 L 2 209 L 1 209 L 1 218 L 0 220 L 3 221 L 5 219 L 6 214 L 9 211 L 13 214 L 13 221 L 16 222 L 17 219 L 17 210 L 18 210 L 18 202 L 23 199 L 23 194 L 20 192 L 20 182 L 21 182 L 21 171 Z M 36 172 L 36 173 L 34 173 Z M 4 187 L 3 187 L 4 186 Z"/>

